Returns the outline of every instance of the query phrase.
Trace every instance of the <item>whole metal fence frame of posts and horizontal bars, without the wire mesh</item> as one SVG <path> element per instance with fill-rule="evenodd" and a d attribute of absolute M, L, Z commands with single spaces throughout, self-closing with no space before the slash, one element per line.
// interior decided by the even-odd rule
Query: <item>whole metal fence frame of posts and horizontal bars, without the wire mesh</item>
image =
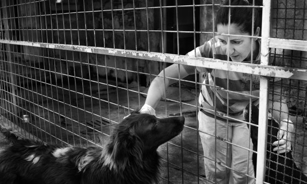
<path fill-rule="evenodd" d="M 3 6 L 6 7 L 6 0 L 2 1 Z M 221 61 L 210 58 L 197 58 L 189 57 L 178 54 L 166 54 L 159 52 L 146 52 L 146 51 L 136 51 L 136 50 L 127 50 L 127 49 L 116 49 L 116 48 L 107 48 L 107 47 L 94 47 L 94 46 L 78 46 L 78 45 L 65 45 L 65 44 L 50 44 L 50 43 L 35 43 L 35 42 L 26 42 L 26 41 L 13 41 L 9 39 L 0 39 L 0 44 L 6 45 L 8 50 L 8 62 L 11 62 L 10 56 L 10 46 L 8 45 L 19 45 L 19 46 L 34 46 L 42 48 L 52 48 L 52 49 L 61 49 L 61 50 L 70 50 L 70 51 L 80 51 L 86 53 L 94 54 L 103 54 L 110 56 L 121 56 L 126 58 L 135 58 L 135 59 L 146 59 L 152 61 L 159 61 L 165 63 L 177 63 L 183 65 L 190 65 L 195 67 L 205 67 L 211 69 L 223 69 L 227 71 L 237 71 L 245 72 L 249 74 L 261 75 L 265 77 L 281 77 L 287 79 L 298 79 L 298 80 L 307 80 L 307 69 L 299 68 L 287 68 L 287 67 L 274 67 L 268 66 L 270 48 L 281 48 L 281 49 L 292 49 L 292 50 L 301 50 L 307 51 L 307 41 L 299 40 L 288 40 L 288 39 L 277 39 L 270 38 L 270 14 L 271 14 L 271 0 L 263 0 L 263 13 L 262 13 L 262 36 L 261 40 L 261 64 L 247 64 L 247 63 L 236 63 L 229 61 Z M 4 12 L 4 29 L 5 29 L 5 38 L 9 38 L 9 27 L 7 23 L 7 12 L 3 8 Z M 10 65 L 10 71 L 12 71 L 12 66 Z M 259 117 L 259 134 L 266 135 L 267 127 L 267 104 L 268 104 L 268 79 L 265 77 L 260 78 L 260 117 Z M 10 82 L 12 83 L 11 87 L 15 88 L 15 79 L 11 75 Z M 13 96 L 16 94 L 12 90 Z M 13 97 L 14 99 L 14 97 Z M 16 105 L 16 100 L 13 100 L 13 103 Z M 13 106 L 14 107 L 14 106 Z M 15 107 L 16 108 L 16 107 Z M 16 111 L 15 111 L 16 112 Z M 265 155 L 266 155 L 266 137 L 259 137 L 258 140 L 258 156 L 257 156 L 257 184 L 263 184 L 264 174 L 265 174 Z"/>

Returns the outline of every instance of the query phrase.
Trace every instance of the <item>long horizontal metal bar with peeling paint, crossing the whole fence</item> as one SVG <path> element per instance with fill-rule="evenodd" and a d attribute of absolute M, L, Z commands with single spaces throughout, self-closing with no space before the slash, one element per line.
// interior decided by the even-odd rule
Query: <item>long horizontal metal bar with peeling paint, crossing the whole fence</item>
<path fill-rule="evenodd" d="M 222 69 L 228 71 L 236 71 L 241 73 L 249 73 L 255 75 L 262 75 L 268 77 L 281 77 L 289 79 L 307 80 L 307 69 L 299 68 L 284 68 L 275 66 L 264 66 L 249 63 L 229 62 L 223 60 L 216 60 L 211 58 L 189 57 L 184 55 L 165 54 L 158 52 L 146 52 L 135 50 L 124 50 L 94 46 L 76 46 L 65 44 L 48 44 L 38 42 L 24 42 L 12 40 L 0 40 L 2 44 L 22 45 L 22 46 L 36 46 L 43 48 L 80 51 L 93 54 L 105 54 L 119 57 L 136 58 L 151 61 L 160 61 L 167 63 L 177 63 L 195 67 L 204 67 L 210 69 Z"/>

